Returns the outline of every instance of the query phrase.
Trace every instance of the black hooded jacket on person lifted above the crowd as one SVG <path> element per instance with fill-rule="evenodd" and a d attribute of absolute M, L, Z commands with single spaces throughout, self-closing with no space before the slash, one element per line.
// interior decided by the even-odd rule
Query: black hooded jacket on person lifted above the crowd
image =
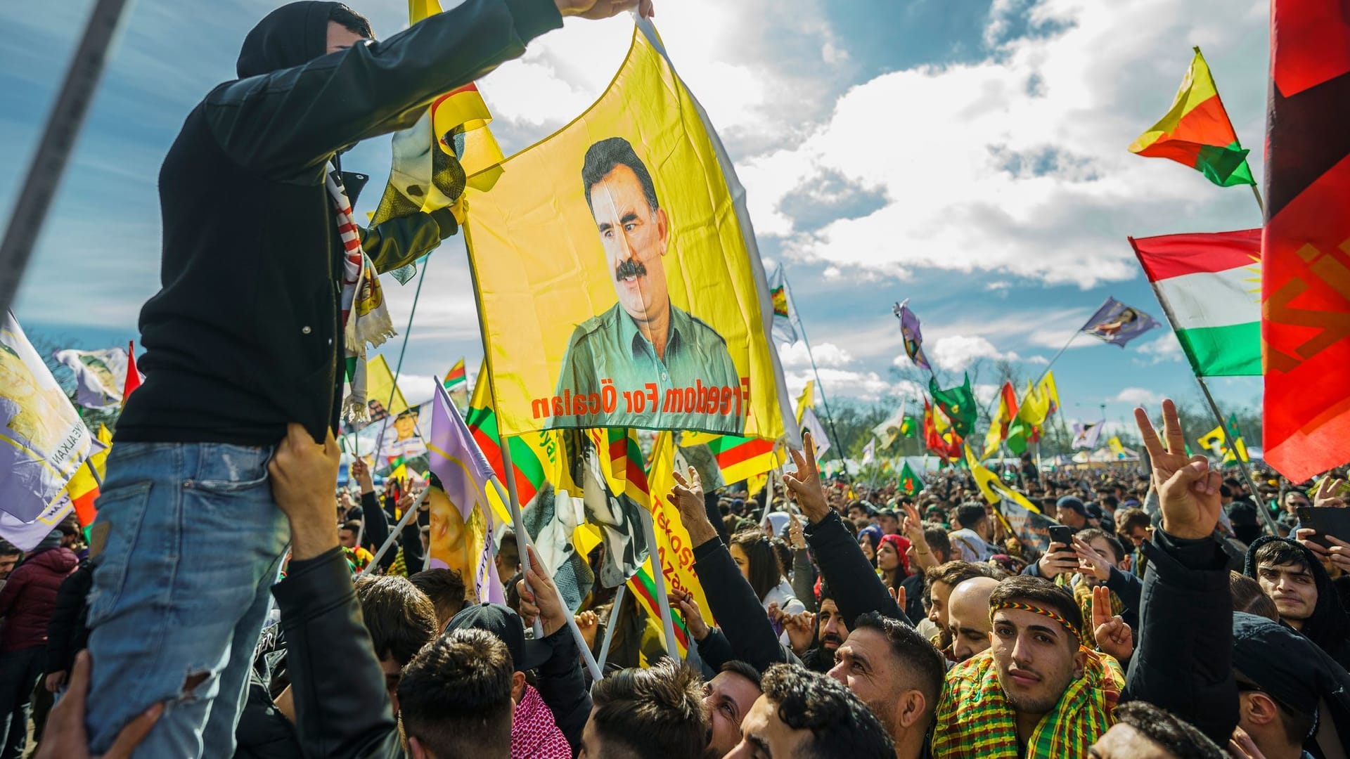
<path fill-rule="evenodd" d="M 562 26 L 552 0 L 467 0 L 325 54 L 335 5 L 269 14 L 244 39 L 239 78 L 212 89 L 169 149 L 161 290 L 140 312 L 146 382 L 117 440 L 269 446 L 289 421 L 321 440 L 343 382 L 342 242 L 324 166 Z M 413 213 L 362 230 L 362 246 L 386 271 L 454 231 L 448 212 Z"/>

